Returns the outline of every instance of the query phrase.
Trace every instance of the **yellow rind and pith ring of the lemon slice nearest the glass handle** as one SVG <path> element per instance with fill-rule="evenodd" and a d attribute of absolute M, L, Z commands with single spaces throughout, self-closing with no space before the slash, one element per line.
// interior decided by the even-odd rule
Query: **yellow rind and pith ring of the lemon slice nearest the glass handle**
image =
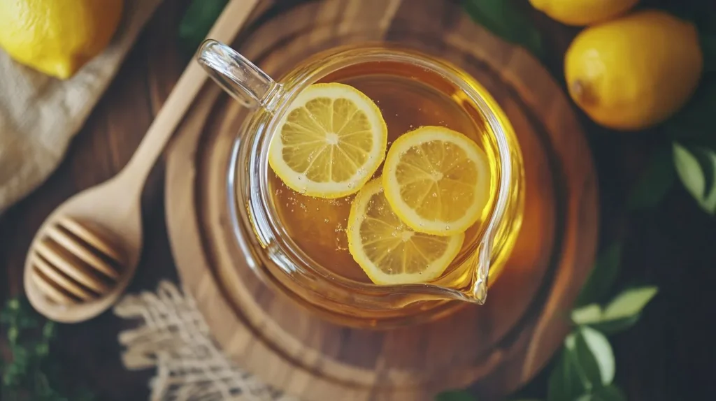
<path fill-rule="evenodd" d="M 354 174 L 353 177 L 344 182 L 313 182 L 307 179 L 303 174 L 299 174 L 291 169 L 282 157 L 283 143 L 281 142 L 281 127 L 286 123 L 286 117 L 292 110 L 304 107 L 306 102 L 319 97 L 330 97 L 332 99 L 349 99 L 357 107 L 364 112 L 373 129 L 374 138 L 377 140 L 377 146 L 372 149 L 367 162 L 365 162 Z M 379 107 L 365 94 L 353 86 L 339 83 L 329 84 L 312 84 L 308 88 L 301 91 L 296 97 L 291 108 L 286 111 L 284 117 L 279 122 L 274 138 L 271 139 L 269 146 L 269 165 L 276 172 L 282 182 L 296 192 L 307 195 L 309 197 L 319 197 L 324 199 L 337 199 L 347 197 L 358 192 L 375 174 L 380 164 L 383 162 L 385 152 L 387 150 L 388 129 L 382 117 Z"/>

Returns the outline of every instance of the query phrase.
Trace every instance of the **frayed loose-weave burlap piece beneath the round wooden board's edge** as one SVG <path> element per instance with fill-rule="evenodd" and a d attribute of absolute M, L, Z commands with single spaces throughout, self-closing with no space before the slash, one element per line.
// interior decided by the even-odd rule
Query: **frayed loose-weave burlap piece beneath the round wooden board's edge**
<path fill-rule="evenodd" d="M 137 327 L 121 332 L 122 362 L 156 368 L 152 401 L 297 401 L 242 370 L 221 352 L 194 299 L 168 281 L 155 292 L 125 295 L 115 314 Z"/>

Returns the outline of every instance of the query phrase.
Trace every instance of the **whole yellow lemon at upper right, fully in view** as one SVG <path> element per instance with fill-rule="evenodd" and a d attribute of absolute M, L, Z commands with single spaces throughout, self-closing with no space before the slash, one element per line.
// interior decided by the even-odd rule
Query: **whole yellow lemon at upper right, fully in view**
<path fill-rule="evenodd" d="M 703 55 L 693 24 L 646 10 L 581 31 L 564 71 L 570 96 L 591 119 L 637 130 L 663 122 L 687 102 Z"/>

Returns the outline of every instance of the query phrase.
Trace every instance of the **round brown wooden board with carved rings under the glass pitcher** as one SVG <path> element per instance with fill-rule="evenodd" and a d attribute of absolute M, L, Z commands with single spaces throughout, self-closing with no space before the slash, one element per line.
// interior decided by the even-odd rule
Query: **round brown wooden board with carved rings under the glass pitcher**
<path fill-rule="evenodd" d="M 596 176 L 568 99 L 527 51 L 448 1 L 323 0 L 275 11 L 257 11 L 233 44 L 274 77 L 316 51 L 374 40 L 473 74 L 518 135 L 525 218 L 485 305 L 384 332 L 332 325 L 267 287 L 238 254 L 226 174 L 245 113 L 209 83 L 169 149 L 166 202 L 181 279 L 216 340 L 241 367 L 303 400 L 429 400 L 468 386 L 483 400 L 516 390 L 561 344 L 596 247 Z"/>

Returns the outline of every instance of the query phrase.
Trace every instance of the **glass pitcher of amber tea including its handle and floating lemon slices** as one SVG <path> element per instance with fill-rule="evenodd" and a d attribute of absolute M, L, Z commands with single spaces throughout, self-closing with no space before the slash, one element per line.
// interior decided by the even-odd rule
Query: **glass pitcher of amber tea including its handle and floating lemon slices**
<path fill-rule="evenodd" d="M 356 327 L 485 302 L 518 235 L 524 177 L 475 79 L 389 44 L 315 54 L 279 81 L 212 40 L 198 61 L 250 109 L 227 181 L 237 269 Z"/>

